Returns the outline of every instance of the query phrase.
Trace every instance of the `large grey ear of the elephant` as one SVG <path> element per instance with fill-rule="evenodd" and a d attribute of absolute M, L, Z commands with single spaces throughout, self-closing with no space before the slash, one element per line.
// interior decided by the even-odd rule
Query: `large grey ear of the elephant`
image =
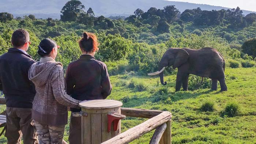
<path fill-rule="evenodd" d="M 177 55 L 173 63 L 173 68 L 180 67 L 182 64 L 188 61 L 189 54 L 184 49 L 176 49 Z"/>

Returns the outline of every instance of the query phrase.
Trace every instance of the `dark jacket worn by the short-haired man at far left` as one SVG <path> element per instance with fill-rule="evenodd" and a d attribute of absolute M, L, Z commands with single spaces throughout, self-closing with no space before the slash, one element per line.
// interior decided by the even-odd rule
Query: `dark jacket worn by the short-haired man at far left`
<path fill-rule="evenodd" d="M 28 72 L 34 62 L 16 48 L 0 56 L 0 89 L 3 89 L 7 107 L 32 108 L 35 88 Z"/>

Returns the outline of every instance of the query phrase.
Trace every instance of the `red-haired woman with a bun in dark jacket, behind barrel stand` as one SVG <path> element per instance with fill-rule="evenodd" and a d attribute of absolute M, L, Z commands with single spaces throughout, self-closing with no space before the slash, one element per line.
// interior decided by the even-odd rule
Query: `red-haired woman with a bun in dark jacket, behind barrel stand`
<path fill-rule="evenodd" d="M 72 98 L 84 101 L 106 99 L 110 95 L 110 84 L 106 64 L 95 60 L 94 54 L 99 49 L 97 37 L 93 33 L 83 33 L 79 41 L 82 56 L 71 62 L 66 71 L 67 94 Z M 72 112 L 81 109 L 71 108 Z M 73 117 L 71 113 L 69 123 L 69 143 L 81 143 L 81 118 Z"/>

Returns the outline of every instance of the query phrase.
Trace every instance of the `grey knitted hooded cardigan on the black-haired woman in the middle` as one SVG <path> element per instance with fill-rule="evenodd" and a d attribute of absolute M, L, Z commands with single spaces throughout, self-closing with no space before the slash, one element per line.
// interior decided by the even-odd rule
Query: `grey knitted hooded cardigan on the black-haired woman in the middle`
<path fill-rule="evenodd" d="M 66 125 L 67 106 L 78 108 L 79 101 L 67 95 L 62 64 L 42 57 L 29 69 L 29 79 L 35 84 L 32 118 L 41 124 Z"/>

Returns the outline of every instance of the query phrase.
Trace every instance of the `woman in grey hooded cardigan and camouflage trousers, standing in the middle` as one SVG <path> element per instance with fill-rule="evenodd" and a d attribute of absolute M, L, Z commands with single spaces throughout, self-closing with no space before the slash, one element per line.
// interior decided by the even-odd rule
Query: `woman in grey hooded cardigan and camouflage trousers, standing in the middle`
<path fill-rule="evenodd" d="M 40 144 L 61 144 L 68 122 L 67 106 L 79 108 L 79 101 L 65 91 L 62 64 L 55 61 L 58 47 L 52 39 L 43 39 L 38 46 L 41 59 L 29 69 L 29 79 L 37 91 L 32 118 Z"/>

